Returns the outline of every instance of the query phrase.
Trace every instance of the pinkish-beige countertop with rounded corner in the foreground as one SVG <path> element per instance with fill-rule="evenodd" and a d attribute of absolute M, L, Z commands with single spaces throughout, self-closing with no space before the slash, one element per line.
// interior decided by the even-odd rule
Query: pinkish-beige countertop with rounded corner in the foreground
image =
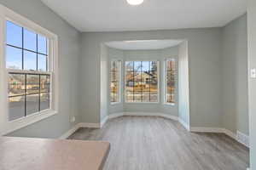
<path fill-rule="evenodd" d="M 110 144 L 101 141 L 0 138 L 1 170 L 100 170 Z"/>

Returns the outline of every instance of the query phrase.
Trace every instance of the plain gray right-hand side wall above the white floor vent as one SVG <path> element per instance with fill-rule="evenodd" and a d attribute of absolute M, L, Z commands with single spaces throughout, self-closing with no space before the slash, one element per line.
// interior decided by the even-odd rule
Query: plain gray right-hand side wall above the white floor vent
<path fill-rule="evenodd" d="M 248 135 L 246 14 L 224 26 L 222 66 L 223 126 Z"/>

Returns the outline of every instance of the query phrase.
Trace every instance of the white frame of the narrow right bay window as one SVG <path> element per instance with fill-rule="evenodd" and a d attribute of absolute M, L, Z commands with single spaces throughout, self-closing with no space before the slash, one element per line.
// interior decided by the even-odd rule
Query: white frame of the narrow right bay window
<path fill-rule="evenodd" d="M 177 59 L 175 59 L 174 57 L 169 57 L 169 58 L 166 58 L 164 60 L 164 105 L 176 105 L 177 104 L 177 101 L 175 101 L 174 103 L 170 103 L 170 102 L 167 102 L 167 65 L 166 65 L 166 62 L 167 61 L 174 61 L 175 62 L 175 66 L 177 66 Z M 177 68 L 177 67 L 176 67 Z M 177 69 L 176 69 L 176 73 L 177 73 Z M 175 91 L 174 91 L 174 99 L 177 100 L 176 96 L 177 96 L 177 76 L 175 77 L 175 83 L 174 83 L 174 87 L 175 87 Z"/>

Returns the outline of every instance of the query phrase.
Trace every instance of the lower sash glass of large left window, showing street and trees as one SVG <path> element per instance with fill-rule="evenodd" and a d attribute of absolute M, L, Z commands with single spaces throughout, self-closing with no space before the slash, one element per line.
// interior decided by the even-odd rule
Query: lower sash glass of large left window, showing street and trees
<path fill-rule="evenodd" d="M 49 109 L 49 78 L 9 73 L 9 121 Z"/>

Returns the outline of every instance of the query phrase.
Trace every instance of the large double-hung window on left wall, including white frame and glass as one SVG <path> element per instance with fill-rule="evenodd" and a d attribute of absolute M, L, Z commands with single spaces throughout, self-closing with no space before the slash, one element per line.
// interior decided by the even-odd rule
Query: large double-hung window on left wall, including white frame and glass
<path fill-rule="evenodd" d="M 5 132 L 57 112 L 57 37 L 3 8 L 1 70 Z M 5 70 L 5 71 L 4 71 Z M 6 92 L 6 93 L 4 93 Z"/>

